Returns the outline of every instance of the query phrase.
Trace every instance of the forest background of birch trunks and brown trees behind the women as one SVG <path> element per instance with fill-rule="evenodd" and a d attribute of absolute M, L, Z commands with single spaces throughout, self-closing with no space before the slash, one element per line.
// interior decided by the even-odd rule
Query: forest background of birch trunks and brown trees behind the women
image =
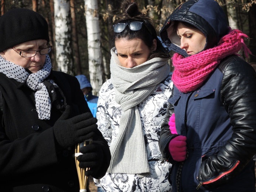
<path fill-rule="evenodd" d="M 157 31 L 174 9 L 185 0 L 134 0 L 140 10 L 153 18 Z M 256 0 L 216 0 L 229 26 L 243 31 L 256 62 Z M 110 49 L 114 47 L 112 26 L 119 18 L 121 0 L 0 0 L 1 15 L 13 7 L 29 8 L 48 22 L 50 57 L 54 70 L 86 75 L 98 95 L 110 78 Z M 204 11 L 204 10 L 202 10 Z M 1 34 L 0 34 L 1 35 Z M 1 43 L 1 42 L 0 42 Z M 170 61 L 171 65 L 171 61 Z"/>

